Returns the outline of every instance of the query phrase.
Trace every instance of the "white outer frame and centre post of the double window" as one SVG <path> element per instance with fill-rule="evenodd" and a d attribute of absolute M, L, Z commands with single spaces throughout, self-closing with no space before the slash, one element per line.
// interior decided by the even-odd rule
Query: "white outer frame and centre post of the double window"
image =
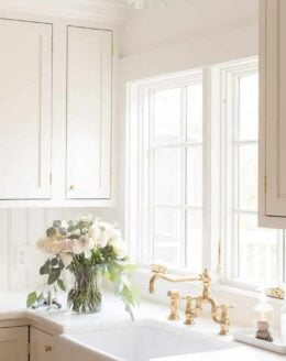
<path fill-rule="evenodd" d="M 147 264 L 140 262 L 142 252 L 144 252 L 144 242 L 147 239 L 144 233 L 146 219 L 144 219 L 143 209 L 146 207 L 146 190 L 142 188 L 145 167 L 144 146 L 146 146 L 147 134 L 142 133 L 144 122 L 144 91 L 154 87 L 156 83 L 162 81 L 166 86 L 177 86 L 185 84 L 190 74 L 201 72 L 202 74 L 202 118 L 204 118 L 204 157 L 202 157 L 202 222 L 204 222 L 204 244 L 202 244 L 202 264 L 212 272 L 217 273 L 216 281 L 220 285 L 256 291 L 257 286 L 245 284 L 233 275 L 233 244 L 227 242 L 230 240 L 228 222 L 230 221 L 228 212 L 229 196 L 231 189 L 224 193 L 223 188 L 229 187 L 227 169 L 227 145 L 228 136 L 231 134 L 227 129 L 227 120 L 230 114 L 226 113 L 226 99 L 228 87 L 228 77 L 243 72 L 256 70 L 258 66 L 257 56 L 244 59 L 210 65 L 189 72 L 180 72 L 143 80 L 131 81 L 127 85 L 127 166 L 125 166 L 125 238 L 130 244 L 130 255 L 140 267 L 146 269 Z M 233 89 L 232 89 L 233 91 Z M 141 108 L 139 107 L 141 105 Z M 143 127 L 143 128 L 142 128 Z M 134 141 L 135 140 L 135 141 Z M 134 142 L 135 152 L 134 152 Z M 138 162 L 138 160 L 140 160 Z M 218 166 L 219 165 L 219 166 Z M 206 182 L 209 179 L 209 182 Z M 147 180 L 150 182 L 150 180 Z M 131 187 L 132 185 L 132 187 Z M 135 196 L 135 201 L 134 197 Z M 131 198 L 133 198 L 131 200 Z M 255 212 L 256 214 L 256 212 Z M 139 216 L 141 215 L 141 217 Z M 231 238 L 232 239 L 232 238 Z M 279 262 L 279 281 L 286 281 L 286 242 L 283 232 L 279 253 L 283 254 Z M 148 244 L 150 249 L 150 244 Z M 283 269 L 284 267 L 284 269 Z M 284 272 L 283 272 L 284 270 Z M 187 274 L 190 269 L 172 267 L 170 272 L 177 274 Z M 278 280 L 277 280 L 278 282 Z"/>

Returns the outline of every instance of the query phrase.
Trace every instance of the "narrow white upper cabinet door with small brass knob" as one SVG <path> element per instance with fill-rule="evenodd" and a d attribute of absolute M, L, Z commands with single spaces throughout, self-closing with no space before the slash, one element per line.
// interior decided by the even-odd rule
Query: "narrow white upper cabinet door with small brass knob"
<path fill-rule="evenodd" d="M 112 33 L 68 26 L 69 199 L 110 198 Z"/>

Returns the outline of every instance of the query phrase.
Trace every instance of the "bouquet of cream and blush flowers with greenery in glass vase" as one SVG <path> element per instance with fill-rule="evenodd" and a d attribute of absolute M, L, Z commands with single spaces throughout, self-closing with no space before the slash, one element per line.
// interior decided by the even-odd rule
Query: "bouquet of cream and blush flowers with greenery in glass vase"
<path fill-rule="evenodd" d="M 40 274 L 47 281 L 40 291 L 28 295 L 26 305 L 41 303 L 44 287 L 55 292 L 66 291 L 64 271 L 74 275 L 74 286 L 68 292 L 67 303 L 77 313 L 97 313 L 101 307 L 101 282 L 113 284 L 116 294 L 125 304 L 131 315 L 136 305 L 138 289 L 132 286 L 129 274 L 134 266 L 128 262 L 127 244 L 120 230 L 91 216 L 79 217 L 68 222 L 55 220 L 46 230 L 46 237 L 37 241 L 37 247 L 50 254 L 41 266 Z"/>

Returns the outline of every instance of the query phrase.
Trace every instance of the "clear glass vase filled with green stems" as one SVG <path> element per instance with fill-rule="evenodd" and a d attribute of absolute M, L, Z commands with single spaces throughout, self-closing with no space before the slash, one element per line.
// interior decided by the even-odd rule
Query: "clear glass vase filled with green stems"
<path fill-rule="evenodd" d="M 96 314 L 101 309 L 101 276 L 97 266 L 76 265 L 69 267 L 75 277 L 67 303 L 72 310 Z"/>

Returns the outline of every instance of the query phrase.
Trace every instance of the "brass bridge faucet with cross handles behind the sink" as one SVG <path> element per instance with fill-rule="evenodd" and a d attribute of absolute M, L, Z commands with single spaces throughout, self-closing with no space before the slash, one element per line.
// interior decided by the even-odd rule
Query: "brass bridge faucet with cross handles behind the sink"
<path fill-rule="evenodd" d="M 152 272 L 154 273 L 150 278 L 148 291 L 151 294 L 155 293 L 155 283 L 158 278 L 170 283 L 182 283 L 182 282 L 201 282 L 202 283 L 202 295 L 199 297 L 186 296 L 180 297 L 178 291 L 169 291 L 168 296 L 170 297 L 170 314 L 168 316 L 169 320 L 179 319 L 178 307 L 180 298 L 187 302 L 186 305 L 186 320 L 185 325 L 195 324 L 195 318 L 200 317 L 202 314 L 202 305 L 209 303 L 211 306 L 211 316 L 215 322 L 220 325 L 219 335 L 229 335 L 229 309 L 232 308 L 230 305 L 218 305 L 217 302 L 210 296 L 210 282 L 211 277 L 208 270 L 204 270 L 201 274 L 197 276 L 173 276 L 166 274 L 166 267 L 162 265 L 152 265 Z"/>

